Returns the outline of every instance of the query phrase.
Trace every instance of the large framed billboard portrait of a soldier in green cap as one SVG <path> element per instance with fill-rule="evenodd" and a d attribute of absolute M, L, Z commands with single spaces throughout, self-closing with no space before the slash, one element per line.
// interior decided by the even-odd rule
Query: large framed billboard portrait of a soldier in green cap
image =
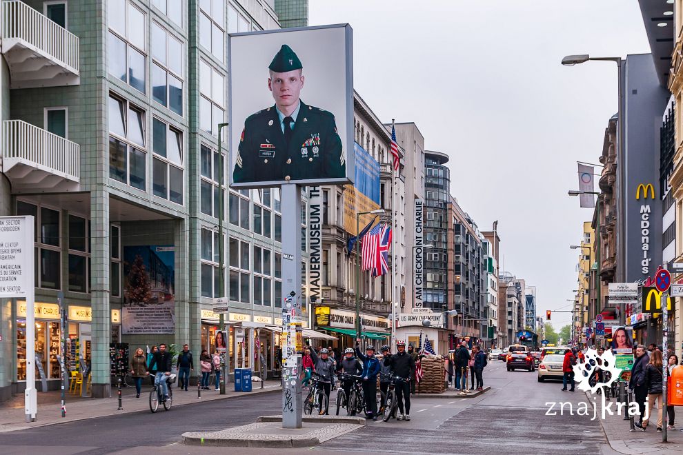
<path fill-rule="evenodd" d="M 230 34 L 233 188 L 353 182 L 348 24 Z"/>

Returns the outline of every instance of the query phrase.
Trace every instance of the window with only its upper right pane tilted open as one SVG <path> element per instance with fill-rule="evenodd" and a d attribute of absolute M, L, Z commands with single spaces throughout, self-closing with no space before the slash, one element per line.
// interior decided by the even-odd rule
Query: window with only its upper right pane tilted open
<path fill-rule="evenodd" d="M 183 134 L 163 121 L 152 119 L 154 163 L 152 193 L 183 203 Z"/>

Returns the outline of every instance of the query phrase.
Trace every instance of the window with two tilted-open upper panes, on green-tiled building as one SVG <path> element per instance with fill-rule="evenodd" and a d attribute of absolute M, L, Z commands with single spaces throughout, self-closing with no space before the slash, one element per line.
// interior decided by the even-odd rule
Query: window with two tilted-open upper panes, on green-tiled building
<path fill-rule="evenodd" d="M 138 190 L 146 190 L 145 112 L 110 95 L 109 176 Z"/>

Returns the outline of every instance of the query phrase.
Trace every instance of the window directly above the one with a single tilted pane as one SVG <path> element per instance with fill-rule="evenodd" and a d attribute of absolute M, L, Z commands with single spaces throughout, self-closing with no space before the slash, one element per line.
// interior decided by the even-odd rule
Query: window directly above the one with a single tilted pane
<path fill-rule="evenodd" d="M 163 27 L 152 23 L 152 99 L 183 115 L 184 46 Z"/>

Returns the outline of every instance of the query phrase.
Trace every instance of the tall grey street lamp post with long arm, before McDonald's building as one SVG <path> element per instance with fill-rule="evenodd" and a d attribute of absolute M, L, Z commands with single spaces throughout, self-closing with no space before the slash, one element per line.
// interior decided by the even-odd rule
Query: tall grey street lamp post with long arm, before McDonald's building
<path fill-rule="evenodd" d="M 624 59 L 621 57 L 591 57 L 588 54 L 581 55 L 567 55 L 562 59 L 562 65 L 573 66 L 586 61 L 613 61 L 617 64 L 617 77 L 619 79 L 617 84 L 617 282 L 623 283 L 626 281 L 626 242 L 624 236 L 626 234 L 624 224 L 624 214 L 626 210 L 626 172 L 624 165 L 624 119 L 623 115 L 626 112 L 626 105 L 624 104 Z M 600 214 L 598 214 L 600 215 Z M 600 302 L 599 305 L 602 305 Z M 620 311 L 621 313 L 621 311 Z M 620 324 L 624 324 L 622 316 L 620 316 Z"/>

